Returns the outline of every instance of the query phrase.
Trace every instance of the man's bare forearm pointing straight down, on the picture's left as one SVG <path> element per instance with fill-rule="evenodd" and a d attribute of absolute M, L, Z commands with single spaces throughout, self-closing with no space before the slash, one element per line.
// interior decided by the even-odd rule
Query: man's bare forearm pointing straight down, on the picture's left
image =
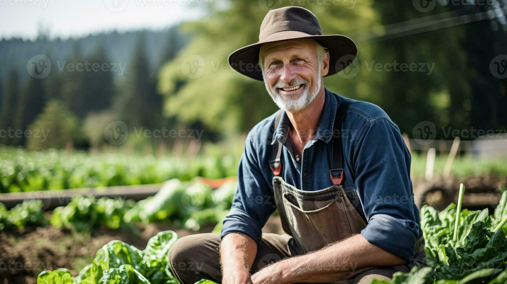
<path fill-rule="evenodd" d="M 229 233 L 220 243 L 222 283 L 249 282 L 249 270 L 257 255 L 257 243 L 241 233 Z"/>

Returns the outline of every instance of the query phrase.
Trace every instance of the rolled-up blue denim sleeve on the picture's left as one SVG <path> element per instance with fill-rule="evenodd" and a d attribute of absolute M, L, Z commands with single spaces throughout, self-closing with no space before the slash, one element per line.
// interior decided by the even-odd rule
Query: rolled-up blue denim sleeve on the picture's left
<path fill-rule="evenodd" d="M 276 209 L 272 190 L 260 169 L 259 151 L 254 146 L 250 132 L 238 166 L 238 188 L 224 218 L 221 239 L 228 233 L 239 232 L 259 243 L 261 229 Z"/>

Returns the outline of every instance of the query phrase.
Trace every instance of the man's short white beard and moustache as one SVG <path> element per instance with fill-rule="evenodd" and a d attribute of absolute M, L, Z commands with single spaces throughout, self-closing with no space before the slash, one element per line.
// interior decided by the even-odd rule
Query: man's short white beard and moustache
<path fill-rule="evenodd" d="M 312 78 L 313 82 L 316 82 L 316 84 L 313 85 L 312 88 L 308 89 L 309 82 L 304 79 L 296 79 L 291 82 L 291 84 L 286 84 L 284 82 L 276 82 L 276 84 L 273 86 L 273 88 L 270 88 L 268 86 L 268 83 L 266 80 L 264 81 L 264 84 L 266 85 L 266 90 L 268 91 L 269 95 L 273 99 L 273 101 L 278 105 L 278 108 L 280 108 L 282 111 L 285 112 L 299 112 L 302 109 L 306 108 L 308 104 L 310 104 L 313 99 L 317 96 L 317 94 L 320 92 L 320 66 L 318 67 L 318 73 L 316 78 Z M 305 88 L 301 95 L 297 98 L 293 98 L 291 96 L 284 96 L 280 95 L 278 88 L 284 88 L 287 86 L 294 86 L 294 85 L 300 85 L 304 84 L 304 86 L 301 86 L 300 88 Z"/>

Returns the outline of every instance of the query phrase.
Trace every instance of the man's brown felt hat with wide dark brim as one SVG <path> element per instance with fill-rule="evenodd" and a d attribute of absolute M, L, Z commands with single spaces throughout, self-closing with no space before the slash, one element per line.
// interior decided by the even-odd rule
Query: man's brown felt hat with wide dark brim
<path fill-rule="evenodd" d="M 345 69 L 357 55 L 355 43 L 340 34 L 323 35 L 317 17 L 302 7 L 270 10 L 261 24 L 259 42 L 242 47 L 229 55 L 229 65 L 237 72 L 263 81 L 259 51 L 264 43 L 312 38 L 329 51 L 330 76 Z"/>

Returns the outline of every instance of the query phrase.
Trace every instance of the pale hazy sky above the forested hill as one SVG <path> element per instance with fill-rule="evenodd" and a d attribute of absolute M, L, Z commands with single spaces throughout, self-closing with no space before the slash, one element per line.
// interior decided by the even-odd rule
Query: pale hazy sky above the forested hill
<path fill-rule="evenodd" d="M 118 29 L 163 28 L 203 15 L 203 0 L 0 0 L 0 37 L 34 39 Z"/>

